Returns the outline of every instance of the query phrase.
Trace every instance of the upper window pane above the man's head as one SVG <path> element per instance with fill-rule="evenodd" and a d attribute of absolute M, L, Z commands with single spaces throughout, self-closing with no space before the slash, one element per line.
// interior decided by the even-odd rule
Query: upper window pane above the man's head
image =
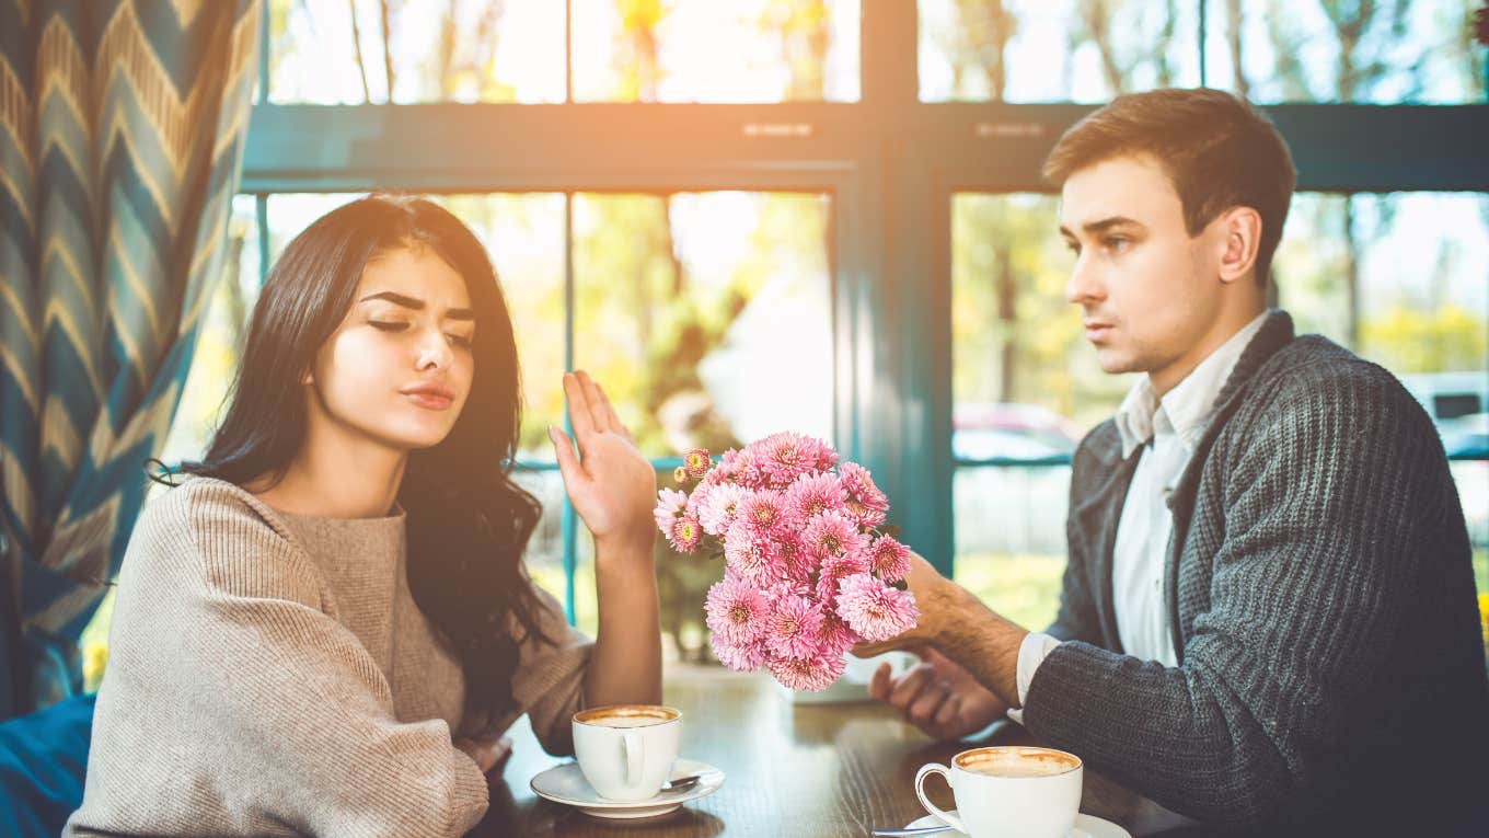
<path fill-rule="evenodd" d="M 1258 104 L 1483 101 L 1465 0 L 920 0 L 925 101 L 1208 85 Z"/>

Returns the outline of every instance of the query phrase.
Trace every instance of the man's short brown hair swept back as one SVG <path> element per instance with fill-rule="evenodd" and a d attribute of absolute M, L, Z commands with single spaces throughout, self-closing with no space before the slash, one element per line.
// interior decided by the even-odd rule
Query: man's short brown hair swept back
<path fill-rule="evenodd" d="M 1190 236 L 1230 207 L 1255 209 L 1257 280 L 1267 282 L 1297 183 L 1292 155 L 1270 119 L 1217 89 L 1120 95 L 1071 125 L 1045 158 L 1044 176 L 1063 186 L 1083 168 L 1129 155 L 1148 155 L 1169 173 Z"/>

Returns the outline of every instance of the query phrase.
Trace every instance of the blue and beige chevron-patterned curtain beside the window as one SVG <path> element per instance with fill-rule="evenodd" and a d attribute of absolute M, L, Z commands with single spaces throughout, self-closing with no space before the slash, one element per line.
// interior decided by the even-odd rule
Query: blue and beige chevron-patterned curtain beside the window
<path fill-rule="evenodd" d="M 80 689 L 223 267 L 259 0 L 0 0 L 0 717 Z"/>

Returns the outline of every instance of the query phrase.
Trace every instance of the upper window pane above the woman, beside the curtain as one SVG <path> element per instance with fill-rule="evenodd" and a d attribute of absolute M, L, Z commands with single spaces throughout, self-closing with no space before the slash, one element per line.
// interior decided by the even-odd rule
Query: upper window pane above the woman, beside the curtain
<path fill-rule="evenodd" d="M 316 104 L 856 101 L 858 6 L 268 0 L 268 95 Z"/>

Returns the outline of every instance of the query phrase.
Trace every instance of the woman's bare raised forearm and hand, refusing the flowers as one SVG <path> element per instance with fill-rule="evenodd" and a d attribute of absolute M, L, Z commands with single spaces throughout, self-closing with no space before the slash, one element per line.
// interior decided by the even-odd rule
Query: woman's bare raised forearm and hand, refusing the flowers
<path fill-rule="evenodd" d="M 658 704 L 661 628 L 657 616 L 657 474 L 637 450 L 605 391 L 584 371 L 563 379 L 569 437 L 549 428 L 564 489 L 594 535 L 600 629 L 585 675 L 585 702 Z"/>

